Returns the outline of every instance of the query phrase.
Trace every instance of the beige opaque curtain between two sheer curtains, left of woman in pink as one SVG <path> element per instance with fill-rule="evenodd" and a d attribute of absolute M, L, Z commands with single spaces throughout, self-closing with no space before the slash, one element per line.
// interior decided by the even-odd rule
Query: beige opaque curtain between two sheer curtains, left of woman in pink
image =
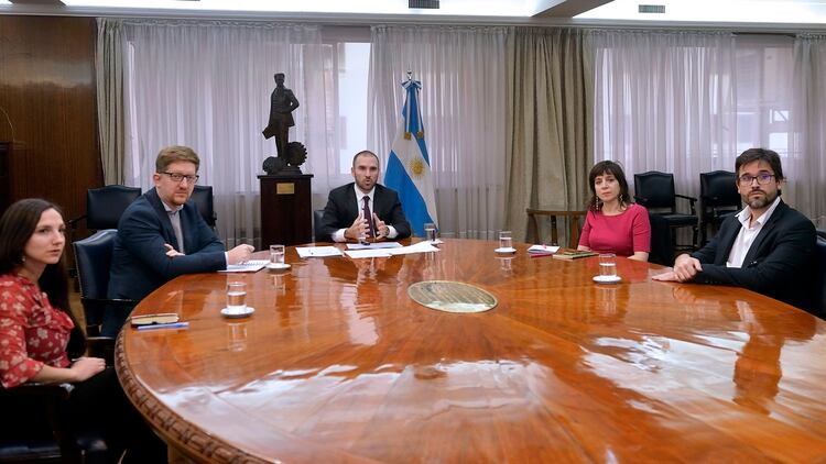
<path fill-rule="evenodd" d="M 515 27 L 506 77 L 506 227 L 526 237 L 526 208 L 583 210 L 594 161 L 585 31 Z M 565 237 L 567 239 L 567 237 Z"/>

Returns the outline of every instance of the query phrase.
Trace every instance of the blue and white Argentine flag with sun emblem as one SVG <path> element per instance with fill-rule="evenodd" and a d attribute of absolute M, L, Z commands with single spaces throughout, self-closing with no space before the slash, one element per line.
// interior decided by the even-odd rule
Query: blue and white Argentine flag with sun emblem
<path fill-rule="evenodd" d="M 419 109 L 419 89 L 422 82 L 407 79 L 402 82 L 407 92 L 402 108 L 402 125 L 393 142 L 384 174 L 384 185 L 399 192 L 404 216 L 413 232 L 424 236 L 425 222 L 436 219 L 436 195 L 431 176 L 431 161 L 424 144 L 422 112 Z"/>

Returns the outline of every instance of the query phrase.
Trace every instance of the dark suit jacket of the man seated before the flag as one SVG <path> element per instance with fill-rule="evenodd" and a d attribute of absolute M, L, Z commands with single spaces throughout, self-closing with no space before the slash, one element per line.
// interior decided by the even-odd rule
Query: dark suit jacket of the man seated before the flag
<path fill-rule="evenodd" d="M 324 207 L 322 218 L 320 237 L 317 242 L 332 242 L 333 234 L 339 229 L 347 229 L 359 216 L 361 208 L 356 202 L 355 183 L 335 188 L 329 192 L 327 206 Z M 399 194 L 381 185 L 376 185 L 373 198 L 373 213 L 385 224 L 392 225 L 399 235 L 395 239 L 410 236 L 410 223 L 402 211 L 402 202 Z"/>

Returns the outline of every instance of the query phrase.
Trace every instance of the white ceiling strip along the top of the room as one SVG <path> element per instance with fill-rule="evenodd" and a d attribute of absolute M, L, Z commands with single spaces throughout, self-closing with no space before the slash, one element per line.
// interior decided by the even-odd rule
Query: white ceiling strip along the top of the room
<path fill-rule="evenodd" d="M 434 0 L 431 0 L 434 1 Z M 0 0 L 0 14 L 826 29 L 826 0 Z M 640 5 L 662 12 L 641 13 Z"/>

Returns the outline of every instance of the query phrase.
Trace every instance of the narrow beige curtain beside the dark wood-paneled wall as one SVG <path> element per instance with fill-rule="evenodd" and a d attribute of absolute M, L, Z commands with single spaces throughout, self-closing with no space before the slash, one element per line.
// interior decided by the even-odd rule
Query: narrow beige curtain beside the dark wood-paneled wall
<path fill-rule="evenodd" d="M 98 18 L 97 23 L 95 74 L 104 184 L 123 184 L 123 29 L 119 20 Z"/>

